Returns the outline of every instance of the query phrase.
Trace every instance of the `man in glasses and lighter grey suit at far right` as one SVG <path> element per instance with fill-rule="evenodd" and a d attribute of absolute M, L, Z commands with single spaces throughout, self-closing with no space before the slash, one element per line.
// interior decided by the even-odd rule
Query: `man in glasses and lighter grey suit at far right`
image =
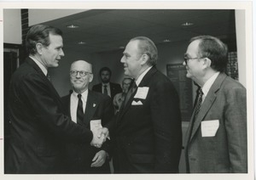
<path fill-rule="evenodd" d="M 190 40 L 183 65 L 202 90 L 186 135 L 185 159 L 191 173 L 247 172 L 247 96 L 224 74 L 228 49 L 216 37 Z"/>

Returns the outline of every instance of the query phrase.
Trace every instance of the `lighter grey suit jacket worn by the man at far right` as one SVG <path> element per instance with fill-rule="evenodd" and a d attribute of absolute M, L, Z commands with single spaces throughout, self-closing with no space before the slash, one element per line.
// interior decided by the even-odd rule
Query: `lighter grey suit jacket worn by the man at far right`
<path fill-rule="evenodd" d="M 247 172 L 247 96 L 239 82 L 220 73 L 186 136 L 188 172 Z M 194 118 L 194 113 L 191 121 Z M 201 122 L 219 121 L 215 136 L 202 137 Z M 189 137 L 189 134 L 191 136 Z"/>

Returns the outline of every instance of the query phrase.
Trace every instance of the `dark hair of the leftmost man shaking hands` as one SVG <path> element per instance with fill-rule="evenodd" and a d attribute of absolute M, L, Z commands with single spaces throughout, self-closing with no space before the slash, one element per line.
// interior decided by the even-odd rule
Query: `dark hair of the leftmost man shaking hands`
<path fill-rule="evenodd" d="M 49 25 L 33 25 L 26 35 L 26 50 L 34 55 L 37 53 L 36 44 L 40 42 L 45 47 L 49 46 L 49 34 L 60 35 L 62 31 L 56 27 Z"/>

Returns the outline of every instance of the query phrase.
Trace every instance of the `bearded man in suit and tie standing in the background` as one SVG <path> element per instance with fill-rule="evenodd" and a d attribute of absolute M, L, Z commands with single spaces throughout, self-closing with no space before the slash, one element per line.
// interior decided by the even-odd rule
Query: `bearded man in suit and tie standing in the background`
<path fill-rule="evenodd" d="M 111 74 L 112 72 L 108 67 L 103 67 L 100 70 L 100 77 L 102 83 L 94 85 L 92 87 L 92 91 L 108 94 L 108 96 L 111 97 L 113 100 L 115 94 L 122 93 L 122 88 L 119 84 L 110 82 Z"/>

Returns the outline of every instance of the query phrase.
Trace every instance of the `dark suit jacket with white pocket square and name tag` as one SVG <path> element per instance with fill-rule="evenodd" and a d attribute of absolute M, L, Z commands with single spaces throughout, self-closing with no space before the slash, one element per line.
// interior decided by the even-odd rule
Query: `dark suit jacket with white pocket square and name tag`
<path fill-rule="evenodd" d="M 181 116 L 177 92 L 172 82 L 152 67 L 140 87 L 148 87 L 145 99 L 131 95 L 115 123 L 109 124 L 115 137 L 114 171 L 178 172 L 182 149 Z M 132 105 L 141 101 L 142 105 Z"/>

